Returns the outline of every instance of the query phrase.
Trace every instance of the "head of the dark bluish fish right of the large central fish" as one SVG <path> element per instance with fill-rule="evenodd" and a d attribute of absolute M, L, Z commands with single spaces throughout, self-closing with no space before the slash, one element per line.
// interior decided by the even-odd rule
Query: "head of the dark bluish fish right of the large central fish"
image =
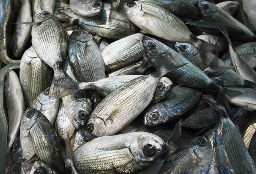
<path fill-rule="evenodd" d="M 156 103 L 148 108 L 144 115 L 144 125 L 147 127 L 162 123 L 165 106 L 163 103 Z"/>

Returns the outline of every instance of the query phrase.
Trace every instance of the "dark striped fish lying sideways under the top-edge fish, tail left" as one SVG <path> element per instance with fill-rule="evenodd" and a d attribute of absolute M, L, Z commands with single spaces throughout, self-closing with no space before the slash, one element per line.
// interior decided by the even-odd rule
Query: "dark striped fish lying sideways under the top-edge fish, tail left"
<path fill-rule="evenodd" d="M 64 26 L 79 25 L 87 32 L 93 33 L 98 36 L 112 39 L 121 39 L 125 36 L 135 34 L 137 28 L 134 24 L 127 23 L 125 19 L 117 19 L 109 21 L 110 10 L 103 10 L 102 14 L 94 17 L 82 17 L 73 14 L 71 9 L 65 9 L 55 12 L 55 16 L 65 21 Z"/>

